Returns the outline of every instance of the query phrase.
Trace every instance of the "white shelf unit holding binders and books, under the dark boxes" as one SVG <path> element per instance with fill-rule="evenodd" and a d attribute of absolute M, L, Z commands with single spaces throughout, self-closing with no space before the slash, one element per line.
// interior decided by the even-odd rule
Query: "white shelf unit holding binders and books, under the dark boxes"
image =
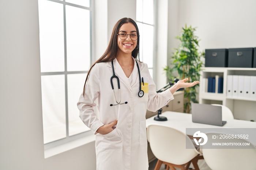
<path fill-rule="evenodd" d="M 205 92 L 203 78 L 223 77 L 223 93 Z M 227 97 L 227 76 L 256 76 L 256 68 L 203 67 L 200 73 L 199 103 L 222 104 L 230 108 L 235 119 L 256 121 L 256 100 L 251 98 Z M 256 85 L 255 85 L 256 86 Z"/>

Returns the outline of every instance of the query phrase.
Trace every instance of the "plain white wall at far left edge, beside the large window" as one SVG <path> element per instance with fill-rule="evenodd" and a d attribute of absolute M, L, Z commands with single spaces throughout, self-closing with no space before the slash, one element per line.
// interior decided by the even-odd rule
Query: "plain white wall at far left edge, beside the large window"
<path fill-rule="evenodd" d="M 0 169 L 42 170 L 37 1 L 0 1 Z"/>

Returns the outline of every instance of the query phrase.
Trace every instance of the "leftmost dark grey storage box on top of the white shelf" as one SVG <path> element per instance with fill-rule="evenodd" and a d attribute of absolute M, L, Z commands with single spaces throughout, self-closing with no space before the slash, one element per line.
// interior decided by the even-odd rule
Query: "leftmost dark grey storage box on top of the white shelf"
<path fill-rule="evenodd" d="M 227 67 L 227 49 L 206 49 L 206 67 Z"/>

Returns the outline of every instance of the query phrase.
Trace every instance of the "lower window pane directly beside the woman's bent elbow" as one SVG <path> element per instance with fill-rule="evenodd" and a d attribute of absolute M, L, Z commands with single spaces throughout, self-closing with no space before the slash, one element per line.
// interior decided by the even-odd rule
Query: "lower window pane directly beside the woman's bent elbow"
<path fill-rule="evenodd" d="M 69 136 L 90 130 L 79 117 L 77 102 L 83 92 L 86 74 L 68 74 L 68 129 Z"/>

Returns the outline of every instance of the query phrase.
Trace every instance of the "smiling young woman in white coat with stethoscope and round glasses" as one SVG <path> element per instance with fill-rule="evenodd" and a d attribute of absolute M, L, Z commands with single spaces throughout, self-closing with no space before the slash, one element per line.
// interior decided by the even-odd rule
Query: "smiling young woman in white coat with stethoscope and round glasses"
<path fill-rule="evenodd" d="M 120 19 L 108 48 L 87 74 L 78 108 L 84 124 L 96 134 L 97 170 L 147 170 L 147 109 L 157 111 L 173 99 L 176 90 L 199 83 L 184 79 L 156 93 L 138 54 L 137 24 L 131 18 Z M 93 109 L 96 99 L 99 116 Z"/>

